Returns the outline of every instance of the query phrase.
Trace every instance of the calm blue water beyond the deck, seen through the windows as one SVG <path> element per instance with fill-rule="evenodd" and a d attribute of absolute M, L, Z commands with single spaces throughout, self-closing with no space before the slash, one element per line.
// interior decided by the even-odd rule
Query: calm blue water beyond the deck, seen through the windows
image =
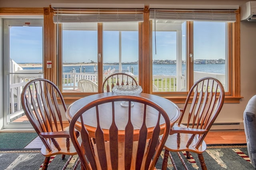
<path fill-rule="evenodd" d="M 131 66 L 133 67 L 134 75 L 138 75 L 138 65 L 137 64 L 122 64 L 122 70 L 131 71 Z M 82 65 L 80 66 L 64 66 L 63 72 L 70 73 L 74 69 L 76 73 L 94 73 L 94 65 Z M 118 70 L 118 65 L 104 65 L 103 70 L 115 68 Z M 42 69 L 42 67 L 23 67 L 23 69 Z M 96 66 L 97 69 L 97 66 Z M 182 65 L 182 73 L 185 73 L 186 65 Z M 194 64 L 194 71 L 202 71 L 208 73 L 221 73 L 225 74 L 225 64 Z M 176 65 L 175 64 L 153 64 L 153 75 L 176 75 Z"/>

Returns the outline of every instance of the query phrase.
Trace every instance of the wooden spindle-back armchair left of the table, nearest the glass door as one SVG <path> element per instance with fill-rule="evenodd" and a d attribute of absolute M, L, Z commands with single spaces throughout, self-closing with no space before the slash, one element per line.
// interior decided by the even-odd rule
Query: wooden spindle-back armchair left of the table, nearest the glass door
<path fill-rule="evenodd" d="M 23 111 L 43 142 L 41 153 L 45 156 L 43 170 L 47 169 L 50 156 L 70 155 L 64 169 L 73 155 L 77 154 L 70 142 L 70 135 L 65 128 L 62 116 L 65 115 L 66 105 L 60 90 L 47 79 L 34 79 L 28 82 L 21 95 Z M 79 136 L 79 132 L 75 131 Z"/>

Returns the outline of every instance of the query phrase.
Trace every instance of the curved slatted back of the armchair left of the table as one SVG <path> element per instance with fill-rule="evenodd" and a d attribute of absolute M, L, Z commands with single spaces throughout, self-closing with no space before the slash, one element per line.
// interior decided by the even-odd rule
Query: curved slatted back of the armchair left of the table
<path fill-rule="evenodd" d="M 43 144 L 49 152 L 52 151 L 47 139 L 54 139 L 54 136 L 46 138 L 43 135 L 64 130 L 61 113 L 67 108 L 60 90 L 47 79 L 34 79 L 24 86 L 21 103 Z"/>

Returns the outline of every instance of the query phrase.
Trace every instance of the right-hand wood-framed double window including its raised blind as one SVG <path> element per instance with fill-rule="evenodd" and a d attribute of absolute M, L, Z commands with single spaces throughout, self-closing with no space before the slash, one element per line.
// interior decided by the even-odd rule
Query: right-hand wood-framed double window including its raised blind
<path fill-rule="evenodd" d="M 231 70 L 239 55 L 232 50 L 239 21 L 235 12 L 206 11 L 150 10 L 152 93 L 181 95 L 202 77 L 220 80 L 226 96 L 236 93 L 238 73 Z"/>

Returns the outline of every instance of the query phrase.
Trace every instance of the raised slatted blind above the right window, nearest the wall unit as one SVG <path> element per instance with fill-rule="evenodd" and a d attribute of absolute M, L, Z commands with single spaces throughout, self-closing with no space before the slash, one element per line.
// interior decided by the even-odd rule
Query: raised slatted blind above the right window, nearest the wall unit
<path fill-rule="evenodd" d="M 150 19 L 236 22 L 236 10 L 163 10 L 150 9 Z"/>

